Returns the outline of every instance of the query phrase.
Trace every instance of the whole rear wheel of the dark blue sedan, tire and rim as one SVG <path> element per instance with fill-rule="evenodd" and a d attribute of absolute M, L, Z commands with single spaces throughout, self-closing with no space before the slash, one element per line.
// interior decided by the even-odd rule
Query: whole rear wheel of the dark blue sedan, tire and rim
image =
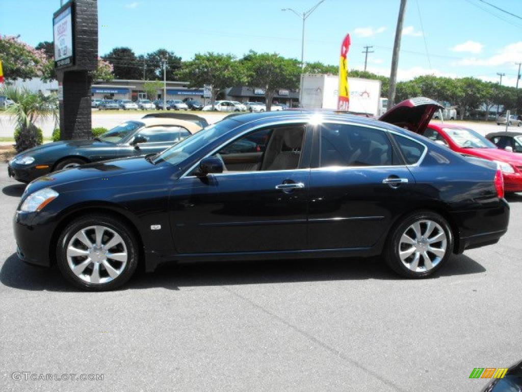
<path fill-rule="evenodd" d="M 446 220 L 430 211 L 406 216 L 392 231 L 386 262 L 408 278 L 433 274 L 452 255 L 453 237 Z"/>

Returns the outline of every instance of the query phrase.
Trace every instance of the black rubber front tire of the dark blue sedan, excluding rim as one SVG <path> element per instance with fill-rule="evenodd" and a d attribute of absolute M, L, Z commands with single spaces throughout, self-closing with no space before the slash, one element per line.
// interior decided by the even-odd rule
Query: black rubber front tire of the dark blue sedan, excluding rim
<path fill-rule="evenodd" d="M 69 267 L 67 259 L 67 248 L 69 241 L 78 233 L 80 230 L 91 227 L 91 226 L 104 226 L 110 230 L 114 230 L 115 233 L 125 242 L 127 251 L 127 261 L 122 269 L 122 272 L 114 279 L 107 283 L 89 283 L 85 280 L 80 279 Z M 89 233 L 87 231 L 87 233 Z M 60 272 L 63 274 L 65 279 L 70 283 L 85 291 L 107 291 L 113 290 L 116 287 L 120 287 L 125 284 L 133 276 L 138 266 L 138 245 L 132 230 L 126 227 L 120 220 L 112 216 L 98 214 L 80 217 L 74 220 L 72 223 L 67 225 L 63 230 L 58 242 L 56 244 L 56 263 Z M 93 264 L 93 263 L 91 263 Z M 87 269 L 90 268 L 89 266 Z M 105 267 L 100 268 L 100 275 L 103 273 L 109 275 Z"/>

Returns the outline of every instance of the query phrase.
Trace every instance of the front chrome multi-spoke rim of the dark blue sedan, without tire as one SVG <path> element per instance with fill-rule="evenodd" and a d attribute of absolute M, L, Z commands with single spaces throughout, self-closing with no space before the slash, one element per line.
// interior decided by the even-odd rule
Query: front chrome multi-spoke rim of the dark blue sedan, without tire
<path fill-rule="evenodd" d="M 109 227 L 82 228 L 67 245 L 70 270 L 87 283 L 103 284 L 116 279 L 127 260 L 125 241 Z"/>

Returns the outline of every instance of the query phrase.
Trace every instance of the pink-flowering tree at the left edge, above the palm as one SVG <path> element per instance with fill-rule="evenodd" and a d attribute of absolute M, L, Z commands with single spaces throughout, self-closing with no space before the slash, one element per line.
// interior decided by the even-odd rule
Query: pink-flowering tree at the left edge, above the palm
<path fill-rule="evenodd" d="M 30 79 L 42 76 L 47 62 L 45 52 L 36 50 L 18 37 L 0 34 L 0 59 L 3 61 L 4 76 L 7 80 Z"/>

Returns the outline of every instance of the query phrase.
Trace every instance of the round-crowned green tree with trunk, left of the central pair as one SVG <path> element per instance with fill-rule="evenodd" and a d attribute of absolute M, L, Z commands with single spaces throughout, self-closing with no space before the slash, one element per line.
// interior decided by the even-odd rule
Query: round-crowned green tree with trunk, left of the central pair
<path fill-rule="evenodd" d="M 189 87 L 211 86 L 212 109 L 220 90 L 246 82 L 245 71 L 233 55 L 213 52 L 197 53 L 193 60 L 183 63 L 177 76 Z"/>

